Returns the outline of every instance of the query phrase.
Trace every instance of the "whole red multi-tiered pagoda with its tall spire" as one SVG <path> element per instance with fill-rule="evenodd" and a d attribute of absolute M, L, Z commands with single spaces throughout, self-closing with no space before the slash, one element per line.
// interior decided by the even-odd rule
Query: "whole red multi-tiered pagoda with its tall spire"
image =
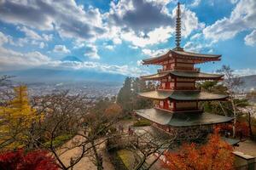
<path fill-rule="evenodd" d="M 146 81 L 159 81 L 160 87 L 151 92 L 140 93 L 141 97 L 154 99 L 152 109 L 135 111 L 152 122 L 154 127 L 166 133 L 176 133 L 177 139 L 204 138 L 214 125 L 230 122 L 233 118 L 206 113 L 199 102 L 224 100 L 226 95 L 201 92 L 196 81 L 222 80 L 223 75 L 201 72 L 196 64 L 220 60 L 218 54 L 196 54 L 183 50 L 181 41 L 180 7 L 177 4 L 176 48 L 158 57 L 143 59 L 143 65 L 162 65 L 154 75 L 141 77 Z"/>

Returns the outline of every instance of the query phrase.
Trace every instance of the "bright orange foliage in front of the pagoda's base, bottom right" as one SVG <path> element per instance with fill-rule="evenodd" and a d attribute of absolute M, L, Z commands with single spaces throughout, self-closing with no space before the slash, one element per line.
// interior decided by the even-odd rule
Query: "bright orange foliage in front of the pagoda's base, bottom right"
<path fill-rule="evenodd" d="M 218 130 L 207 144 L 183 144 L 178 153 L 167 152 L 165 167 L 177 170 L 231 170 L 234 169 L 232 147 L 220 139 Z"/>

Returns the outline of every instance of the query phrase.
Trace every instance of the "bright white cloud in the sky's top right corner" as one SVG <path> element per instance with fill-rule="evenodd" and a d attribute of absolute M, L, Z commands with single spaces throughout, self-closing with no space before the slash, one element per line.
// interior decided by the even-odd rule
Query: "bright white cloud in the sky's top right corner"
<path fill-rule="evenodd" d="M 255 8 L 255 0 L 241 0 L 236 3 L 236 8 L 229 18 L 224 17 L 217 20 L 212 26 L 207 26 L 203 30 L 204 36 L 218 42 L 233 38 L 241 31 L 256 28 Z"/>

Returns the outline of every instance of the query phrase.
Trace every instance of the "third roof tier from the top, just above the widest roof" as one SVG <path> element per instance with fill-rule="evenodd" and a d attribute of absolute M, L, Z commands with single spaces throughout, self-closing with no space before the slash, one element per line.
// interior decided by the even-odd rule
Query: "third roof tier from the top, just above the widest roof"
<path fill-rule="evenodd" d="M 150 98 L 150 99 L 175 99 L 182 101 L 192 101 L 192 100 L 218 100 L 226 99 L 227 95 L 222 94 L 210 94 L 207 92 L 200 92 L 198 90 L 155 90 L 151 92 L 139 93 L 138 95 Z"/>

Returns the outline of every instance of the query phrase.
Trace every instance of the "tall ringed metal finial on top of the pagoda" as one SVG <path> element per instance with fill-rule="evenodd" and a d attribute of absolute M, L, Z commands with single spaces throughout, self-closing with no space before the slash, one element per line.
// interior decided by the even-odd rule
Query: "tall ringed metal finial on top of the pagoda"
<path fill-rule="evenodd" d="M 180 18 L 180 7 L 179 2 L 177 3 L 177 18 L 176 18 L 176 48 L 174 50 L 182 51 L 183 48 L 180 47 L 180 41 L 181 41 L 181 18 Z"/>

